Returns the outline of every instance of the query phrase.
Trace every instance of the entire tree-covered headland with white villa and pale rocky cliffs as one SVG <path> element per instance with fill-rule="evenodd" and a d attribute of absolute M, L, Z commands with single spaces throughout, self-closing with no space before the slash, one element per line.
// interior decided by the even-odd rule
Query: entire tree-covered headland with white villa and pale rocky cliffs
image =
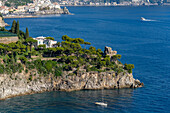
<path fill-rule="evenodd" d="M 81 38 L 29 36 L 13 21 L 10 30 L 18 40 L 0 43 L 0 99 L 44 91 L 138 88 L 133 64 L 122 64 L 110 47 L 104 52 Z M 3 37 L 2 37 L 3 38 Z M 86 49 L 87 48 L 87 49 Z"/>

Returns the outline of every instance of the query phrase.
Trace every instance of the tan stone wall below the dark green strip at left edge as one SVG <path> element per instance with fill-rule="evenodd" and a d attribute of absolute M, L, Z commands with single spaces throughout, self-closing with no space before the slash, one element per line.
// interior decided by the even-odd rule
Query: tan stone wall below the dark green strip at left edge
<path fill-rule="evenodd" d="M 18 37 L 0 37 L 0 43 L 8 44 L 11 42 L 17 42 Z"/>

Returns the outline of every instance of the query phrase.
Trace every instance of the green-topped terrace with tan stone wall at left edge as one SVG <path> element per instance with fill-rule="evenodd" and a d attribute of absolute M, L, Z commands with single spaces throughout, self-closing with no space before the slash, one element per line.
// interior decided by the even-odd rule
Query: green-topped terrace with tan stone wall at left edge
<path fill-rule="evenodd" d="M 13 34 L 7 31 L 0 31 L 0 43 L 9 44 L 17 41 L 18 41 L 17 34 Z"/>

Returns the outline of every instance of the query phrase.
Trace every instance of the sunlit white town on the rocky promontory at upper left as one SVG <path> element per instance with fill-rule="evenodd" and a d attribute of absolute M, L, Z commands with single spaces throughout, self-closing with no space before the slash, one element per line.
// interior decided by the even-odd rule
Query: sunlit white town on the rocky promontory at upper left
<path fill-rule="evenodd" d="M 25 5 L 18 5 L 17 2 L 13 2 L 8 2 L 8 0 L 0 1 L 0 13 L 3 14 L 4 18 L 36 17 L 37 15 L 49 14 L 69 14 L 66 7 L 61 9 L 57 2 L 52 3 L 50 0 L 33 0 L 25 2 Z M 21 3 L 23 4 L 23 2 Z"/>

